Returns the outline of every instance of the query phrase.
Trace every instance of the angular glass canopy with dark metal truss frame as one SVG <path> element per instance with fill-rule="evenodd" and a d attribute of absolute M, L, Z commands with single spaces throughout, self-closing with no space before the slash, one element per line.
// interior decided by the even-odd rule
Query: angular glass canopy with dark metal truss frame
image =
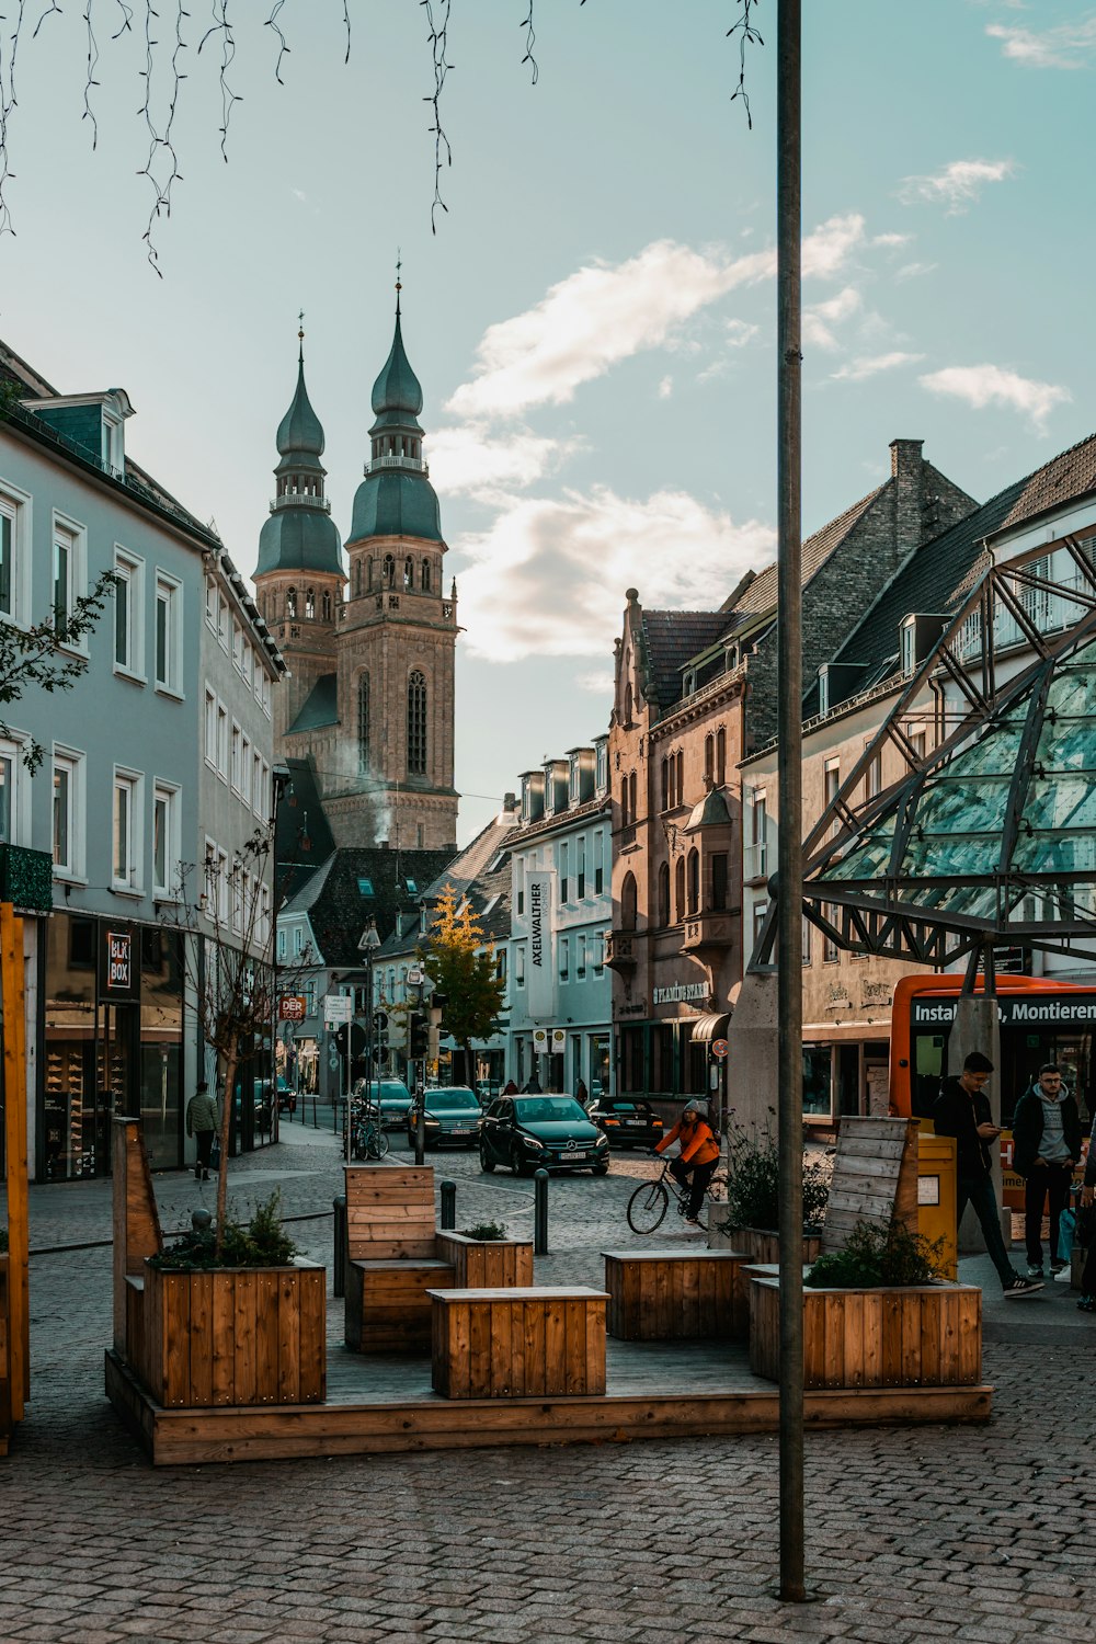
<path fill-rule="evenodd" d="M 1083 567 L 1065 592 L 1073 620 L 1052 636 L 1019 595 L 1061 597 L 1060 584 L 1025 561 L 986 572 L 812 830 L 804 916 L 841 947 L 948 965 L 994 947 L 1096 944 L 1096 574 L 1073 557 Z M 1024 618 L 1012 648 L 1020 671 L 1004 684 L 992 649 L 1001 605 L 1014 625 L 1017 610 Z M 904 722 L 928 681 L 938 702 L 946 689 L 960 707 L 919 760 Z M 902 748 L 909 774 L 853 806 L 886 741 Z"/>

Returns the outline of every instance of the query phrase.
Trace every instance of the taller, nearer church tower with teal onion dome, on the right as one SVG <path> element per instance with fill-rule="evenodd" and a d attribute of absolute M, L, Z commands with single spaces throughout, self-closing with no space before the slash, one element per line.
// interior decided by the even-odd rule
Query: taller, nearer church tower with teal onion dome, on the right
<path fill-rule="evenodd" d="M 335 631 L 343 760 L 324 809 L 338 843 L 444 850 L 457 840 L 454 651 L 457 587 L 422 457 L 422 388 L 396 334 L 373 385 L 365 478 L 347 539 L 350 587 Z M 371 832 L 368 832 L 371 830 Z"/>

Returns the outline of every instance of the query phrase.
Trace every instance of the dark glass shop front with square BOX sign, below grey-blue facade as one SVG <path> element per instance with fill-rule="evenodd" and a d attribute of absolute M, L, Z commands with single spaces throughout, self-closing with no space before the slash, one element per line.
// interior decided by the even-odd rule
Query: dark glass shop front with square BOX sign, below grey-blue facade
<path fill-rule="evenodd" d="M 153 1169 L 182 1164 L 182 934 L 90 914 L 44 922 L 39 1180 L 110 1172 L 110 1120 L 140 1115 Z"/>

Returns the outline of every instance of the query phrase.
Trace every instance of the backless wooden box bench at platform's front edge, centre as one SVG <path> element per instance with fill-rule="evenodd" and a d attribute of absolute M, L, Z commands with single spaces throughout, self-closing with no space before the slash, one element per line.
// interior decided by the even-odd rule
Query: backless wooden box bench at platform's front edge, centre
<path fill-rule="evenodd" d="M 431 1291 L 432 1386 L 445 1399 L 605 1392 L 605 1291 Z"/>

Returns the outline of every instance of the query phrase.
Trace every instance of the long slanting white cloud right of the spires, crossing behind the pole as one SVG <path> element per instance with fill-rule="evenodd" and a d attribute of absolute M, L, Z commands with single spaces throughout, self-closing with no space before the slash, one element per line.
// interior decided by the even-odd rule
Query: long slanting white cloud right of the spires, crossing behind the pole
<path fill-rule="evenodd" d="M 804 275 L 835 278 L 863 238 L 864 219 L 854 212 L 820 224 L 804 240 Z M 672 342 L 698 309 L 774 275 L 774 250 L 726 256 L 672 240 L 624 263 L 580 268 L 524 314 L 488 327 L 475 373 L 447 409 L 478 421 L 564 404 L 619 360 Z"/>

